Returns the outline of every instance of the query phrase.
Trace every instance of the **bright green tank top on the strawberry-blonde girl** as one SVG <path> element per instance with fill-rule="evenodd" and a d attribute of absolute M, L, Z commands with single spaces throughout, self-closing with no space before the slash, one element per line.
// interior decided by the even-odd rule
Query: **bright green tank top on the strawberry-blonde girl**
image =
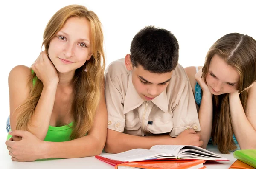
<path fill-rule="evenodd" d="M 32 70 L 32 74 L 33 73 L 34 71 Z M 33 79 L 33 86 L 35 85 L 36 80 L 37 78 L 35 77 Z M 72 133 L 72 125 L 73 125 L 73 122 L 71 122 L 68 125 L 60 126 L 60 127 L 49 126 L 47 134 L 44 138 L 44 141 L 52 141 L 52 142 L 69 141 L 70 135 Z M 12 135 L 9 135 L 8 133 L 7 140 L 11 137 Z"/>

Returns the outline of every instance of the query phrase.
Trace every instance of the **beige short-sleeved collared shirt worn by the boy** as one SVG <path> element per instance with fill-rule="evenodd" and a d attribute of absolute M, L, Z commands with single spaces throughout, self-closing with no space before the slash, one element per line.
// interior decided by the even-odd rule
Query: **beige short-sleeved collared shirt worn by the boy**
<path fill-rule="evenodd" d="M 192 88 L 181 65 L 173 71 L 166 90 L 151 101 L 139 96 L 131 77 L 125 59 L 112 62 L 105 72 L 108 129 L 138 136 L 169 133 L 171 137 L 190 128 L 201 130 Z"/>

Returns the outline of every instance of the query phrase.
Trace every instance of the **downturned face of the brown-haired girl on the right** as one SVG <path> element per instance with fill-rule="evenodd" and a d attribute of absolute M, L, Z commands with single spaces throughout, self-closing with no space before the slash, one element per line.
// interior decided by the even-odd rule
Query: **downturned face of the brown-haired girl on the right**
<path fill-rule="evenodd" d="M 214 55 L 205 79 L 213 95 L 233 93 L 239 84 L 239 73 L 221 57 Z"/>

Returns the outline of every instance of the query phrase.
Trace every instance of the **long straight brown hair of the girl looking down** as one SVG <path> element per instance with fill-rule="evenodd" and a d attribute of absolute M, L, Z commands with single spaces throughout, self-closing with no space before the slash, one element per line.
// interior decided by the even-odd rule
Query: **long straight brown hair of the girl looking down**
<path fill-rule="evenodd" d="M 240 100 L 245 111 L 247 91 L 244 89 L 256 81 L 256 41 L 252 37 L 239 33 L 231 33 L 221 37 L 207 53 L 202 77 L 207 75 L 211 59 L 215 54 L 239 73 L 240 79 L 237 90 L 241 93 Z M 213 96 L 211 136 L 213 144 L 218 145 L 221 153 L 229 153 L 229 151 L 236 149 L 232 135 L 233 127 L 228 93 Z"/>

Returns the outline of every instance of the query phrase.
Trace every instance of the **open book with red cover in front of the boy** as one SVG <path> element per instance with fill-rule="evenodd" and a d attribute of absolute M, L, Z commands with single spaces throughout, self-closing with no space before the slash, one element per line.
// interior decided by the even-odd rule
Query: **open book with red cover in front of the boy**
<path fill-rule="evenodd" d="M 95 157 L 114 166 L 125 162 L 158 159 L 229 161 L 227 158 L 222 158 L 220 155 L 197 146 L 180 145 L 156 145 L 152 146 L 151 149 L 132 149 L 117 154 L 97 155 Z"/>

